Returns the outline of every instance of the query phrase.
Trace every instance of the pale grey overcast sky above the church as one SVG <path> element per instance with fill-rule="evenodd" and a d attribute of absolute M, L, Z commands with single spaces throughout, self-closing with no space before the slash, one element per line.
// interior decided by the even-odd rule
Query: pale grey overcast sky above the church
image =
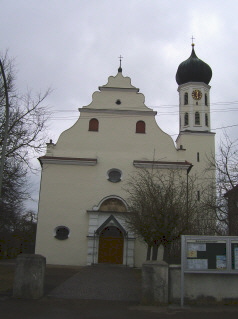
<path fill-rule="evenodd" d="M 175 74 L 191 54 L 213 70 L 211 126 L 217 141 L 222 128 L 238 135 L 238 1 L 236 0 L 0 0 L 0 51 L 15 57 L 20 91 L 53 92 L 47 99 L 52 118 L 48 136 L 78 118 L 99 85 L 123 75 L 158 112 L 159 126 L 178 134 Z M 34 165 L 39 167 L 37 159 Z M 37 209 L 39 176 L 32 178 Z"/>

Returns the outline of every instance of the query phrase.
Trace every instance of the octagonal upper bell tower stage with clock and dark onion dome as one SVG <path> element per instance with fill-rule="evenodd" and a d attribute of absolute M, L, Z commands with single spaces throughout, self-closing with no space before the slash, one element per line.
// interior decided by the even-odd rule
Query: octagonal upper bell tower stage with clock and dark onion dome
<path fill-rule="evenodd" d="M 210 132 L 210 86 L 212 69 L 200 60 L 192 44 L 190 57 L 176 73 L 179 85 L 179 132 Z"/>

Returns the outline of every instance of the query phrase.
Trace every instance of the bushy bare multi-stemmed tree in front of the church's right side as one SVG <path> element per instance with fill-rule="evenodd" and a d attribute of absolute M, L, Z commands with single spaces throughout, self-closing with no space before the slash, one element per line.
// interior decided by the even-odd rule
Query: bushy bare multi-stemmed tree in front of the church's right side
<path fill-rule="evenodd" d="M 197 198 L 196 178 L 187 177 L 178 170 L 140 170 L 128 182 L 130 213 L 126 222 L 146 242 L 147 260 L 151 249 L 152 260 L 157 259 L 160 245 L 164 247 L 164 260 L 168 260 L 170 245 L 181 234 L 212 231 L 214 218 Z"/>

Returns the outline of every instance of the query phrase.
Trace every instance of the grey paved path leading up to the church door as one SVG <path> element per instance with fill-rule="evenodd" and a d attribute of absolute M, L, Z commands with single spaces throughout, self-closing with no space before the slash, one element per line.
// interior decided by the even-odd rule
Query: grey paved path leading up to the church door
<path fill-rule="evenodd" d="M 140 294 L 141 270 L 96 265 L 82 267 L 48 296 L 64 299 L 139 301 Z"/>

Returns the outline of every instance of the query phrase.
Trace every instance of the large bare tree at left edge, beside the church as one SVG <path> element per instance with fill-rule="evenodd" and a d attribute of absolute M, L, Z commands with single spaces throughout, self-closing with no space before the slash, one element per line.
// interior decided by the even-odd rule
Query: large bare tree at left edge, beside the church
<path fill-rule="evenodd" d="M 43 104 L 50 93 L 25 94 L 16 88 L 14 61 L 0 56 L 0 205 L 1 213 L 19 212 L 28 195 L 26 175 L 32 157 L 45 145 L 44 129 L 50 115 Z"/>

